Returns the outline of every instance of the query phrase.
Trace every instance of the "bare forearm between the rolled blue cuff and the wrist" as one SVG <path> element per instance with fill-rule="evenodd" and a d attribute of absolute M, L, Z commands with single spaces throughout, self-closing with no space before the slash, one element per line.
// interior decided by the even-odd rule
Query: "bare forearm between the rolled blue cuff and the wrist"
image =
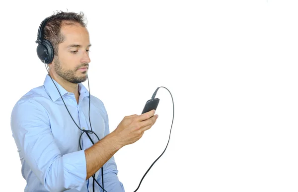
<path fill-rule="evenodd" d="M 94 175 L 121 147 L 117 135 L 112 132 L 86 149 L 86 180 Z"/>

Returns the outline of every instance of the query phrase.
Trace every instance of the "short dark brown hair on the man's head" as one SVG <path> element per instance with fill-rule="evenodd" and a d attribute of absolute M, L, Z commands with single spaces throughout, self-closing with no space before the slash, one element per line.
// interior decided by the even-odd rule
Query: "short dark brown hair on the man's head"
<path fill-rule="evenodd" d="M 82 27 L 87 26 L 87 20 L 83 12 L 64 12 L 58 11 L 51 15 L 44 28 L 44 39 L 50 41 L 54 48 L 54 55 L 58 56 L 58 45 L 64 42 L 64 37 L 61 34 L 62 25 L 80 24 Z"/>

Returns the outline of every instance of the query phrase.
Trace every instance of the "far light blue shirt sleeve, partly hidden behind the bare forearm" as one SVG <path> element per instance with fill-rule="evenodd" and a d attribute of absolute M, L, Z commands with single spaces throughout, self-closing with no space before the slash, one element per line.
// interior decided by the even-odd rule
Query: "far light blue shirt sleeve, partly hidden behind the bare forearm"
<path fill-rule="evenodd" d="M 109 118 L 104 108 L 106 117 L 105 117 L 105 132 L 104 136 L 110 133 L 109 128 Z M 98 183 L 101 183 L 101 169 L 99 169 L 99 174 L 97 177 Z M 110 158 L 103 166 L 103 182 L 104 182 L 104 190 L 107 192 L 125 192 L 123 184 L 118 179 L 118 170 L 115 162 L 114 156 Z M 102 189 L 100 188 L 102 191 Z"/>

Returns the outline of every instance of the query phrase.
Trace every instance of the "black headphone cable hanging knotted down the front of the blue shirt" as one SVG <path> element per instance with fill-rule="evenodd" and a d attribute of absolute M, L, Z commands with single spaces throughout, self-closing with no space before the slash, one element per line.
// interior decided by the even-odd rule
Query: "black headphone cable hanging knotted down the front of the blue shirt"
<path fill-rule="evenodd" d="M 46 69 L 47 69 L 47 71 L 48 71 L 49 76 L 51 77 L 50 72 L 49 72 L 49 70 L 48 70 L 48 68 L 47 68 L 47 65 L 46 65 L 45 61 L 44 61 L 44 64 L 45 64 L 45 67 L 46 67 Z M 58 90 L 59 95 L 61 96 L 61 99 L 62 99 L 62 101 L 63 101 L 63 103 L 64 103 L 64 105 L 65 105 L 65 107 L 66 107 L 68 113 L 70 114 L 72 120 L 74 121 L 74 118 L 73 118 L 73 116 L 71 115 L 70 111 L 68 110 L 68 108 L 67 108 L 67 106 L 66 106 L 66 104 L 65 104 L 65 102 L 64 102 L 64 100 L 63 100 L 63 98 L 62 98 L 62 95 L 61 95 L 61 93 L 60 93 L 58 87 L 56 86 L 56 84 L 55 84 L 55 82 L 54 82 L 54 80 L 53 80 L 52 77 L 51 77 L 51 79 L 52 79 L 52 81 L 53 81 L 53 83 L 54 83 L 56 89 Z M 74 121 L 74 124 L 76 125 L 76 127 L 79 128 L 79 129 L 82 131 L 82 133 L 81 133 L 80 136 L 79 136 L 79 141 L 78 141 L 78 142 L 79 142 L 79 148 L 80 148 L 80 150 L 82 150 L 81 145 L 80 145 L 80 138 L 81 138 L 81 136 L 82 136 L 82 134 L 83 134 L 84 132 L 87 134 L 88 138 L 90 139 L 90 141 L 92 142 L 93 145 L 94 145 L 94 142 L 93 142 L 92 138 L 89 136 L 88 133 L 94 133 L 94 134 L 96 135 L 98 141 L 100 140 L 99 137 L 97 136 L 97 134 L 92 130 L 92 126 L 91 126 L 91 121 L 90 121 L 90 101 L 91 101 L 91 95 L 90 95 L 90 87 L 89 87 L 89 78 L 88 78 L 88 75 L 87 75 L 87 80 L 88 80 L 88 92 L 89 92 L 89 112 L 88 112 L 88 115 L 89 115 L 89 123 L 90 123 L 90 128 L 91 128 L 91 130 L 85 130 L 85 129 L 81 129 L 81 128 L 79 128 L 78 125 L 77 125 L 77 124 L 75 123 L 75 121 Z M 93 184 L 92 184 L 93 192 L 94 192 L 94 180 L 96 181 L 96 183 L 98 184 L 98 186 L 99 186 L 102 190 L 104 190 L 104 188 L 103 188 L 103 166 L 101 167 L 101 176 L 102 176 L 102 177 L 101 177 L 101 180 L 102 180 L 102 187 L 101 187 L 101 186 L 98 184 L 98 182 L 96 181 L 96 179 L 95 179 L 95 174 L 92 176 L 92 177 L 93 177 Z M 104 190 L 104 191 L 105 191 L 105 190 Z M 107 191 L 105 191 L 105 192 L 107 192 Z"/>

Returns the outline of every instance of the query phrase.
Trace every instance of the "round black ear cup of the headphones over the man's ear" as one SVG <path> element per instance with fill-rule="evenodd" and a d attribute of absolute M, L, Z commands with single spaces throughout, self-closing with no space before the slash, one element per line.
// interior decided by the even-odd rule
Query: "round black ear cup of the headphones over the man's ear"
<path fill-rule="evenodd" d="M 37 56 L 41 61 L 50 64 L 54 59 L 54 48 L 48 40 L 44 39 L 36 48 Z"/>

